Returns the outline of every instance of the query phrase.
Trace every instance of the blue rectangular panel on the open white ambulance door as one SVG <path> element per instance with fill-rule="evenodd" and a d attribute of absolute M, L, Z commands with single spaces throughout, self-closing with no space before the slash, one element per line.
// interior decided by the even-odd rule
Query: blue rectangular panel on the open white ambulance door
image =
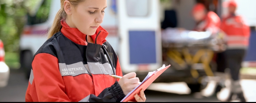
<path fill-rule="evenodd" d="M 156 63 L 155 31 L 129 31 L 130 63 Z"/>

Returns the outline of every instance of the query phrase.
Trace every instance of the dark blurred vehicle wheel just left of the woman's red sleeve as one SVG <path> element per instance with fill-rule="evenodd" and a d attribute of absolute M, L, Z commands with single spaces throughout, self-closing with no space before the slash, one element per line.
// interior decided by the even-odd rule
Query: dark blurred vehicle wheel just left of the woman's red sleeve
<path fill-rule="evenodd" d="M 22 69 L 24 70 L 25 72 L 25 76 L 27 79 L 29 79 L 30 77 L 30 72 L 31 72 L 31 68 L 32 68 L 32 58 L 33 58 L 33 55 L 32 55 L 32 52 L 31 51 L 24 51 L 22 53 L 22 56 L 21 56 L 21 67 Z"/>

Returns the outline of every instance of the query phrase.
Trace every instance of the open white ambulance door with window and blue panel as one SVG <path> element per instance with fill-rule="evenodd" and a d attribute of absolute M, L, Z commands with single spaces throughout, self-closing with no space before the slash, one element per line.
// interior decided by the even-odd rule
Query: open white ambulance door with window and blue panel
<path fill-rule="evenodd" d="M 119 61 L 123 73 L 161 67 L 159 0 L 117 0 Z"/>

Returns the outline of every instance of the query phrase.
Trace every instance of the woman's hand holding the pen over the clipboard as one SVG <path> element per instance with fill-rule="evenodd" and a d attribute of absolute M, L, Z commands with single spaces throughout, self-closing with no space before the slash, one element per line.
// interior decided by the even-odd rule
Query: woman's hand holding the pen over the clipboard
<path fill-rule="evenodd" d="M 128 73 L 124 75 L 118 82 L 118 84 L 121 86 L 124 95 L 127 95 L 129 92 L 131 92 L 136 86 L 139 85 L 139 78 L 136 77 L 135 72 Z"/>

